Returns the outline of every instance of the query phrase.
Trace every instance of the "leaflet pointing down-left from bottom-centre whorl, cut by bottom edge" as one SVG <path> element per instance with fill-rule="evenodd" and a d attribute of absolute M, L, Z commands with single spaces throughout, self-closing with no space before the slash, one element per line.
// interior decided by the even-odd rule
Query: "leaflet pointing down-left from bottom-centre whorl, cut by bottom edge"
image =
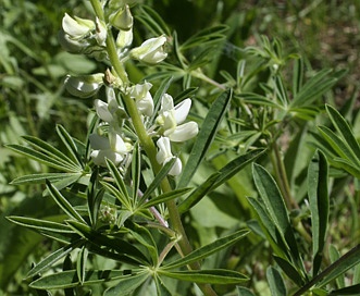
<path fill-rule="evenodd" d="M 103 296 L 127 296 L 149 276 L 150 274 L 148 272 L 139 272 L 137 274 L 123 276 L 115 286 L 108 288 Z"/>

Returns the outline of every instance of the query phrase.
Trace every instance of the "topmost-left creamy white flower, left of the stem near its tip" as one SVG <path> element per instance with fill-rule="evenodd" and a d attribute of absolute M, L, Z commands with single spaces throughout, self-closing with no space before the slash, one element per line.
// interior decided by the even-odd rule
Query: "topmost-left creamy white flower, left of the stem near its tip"
<path fill-rule="evenodd" d="M 62 28 L 70 35 L 73 39 L 82 39 L 90 32 L 92 32 L 96 26 L 90 20 L 80 18 L 77 16 L 71 17 L 67 13 L 62 18 Z"/>

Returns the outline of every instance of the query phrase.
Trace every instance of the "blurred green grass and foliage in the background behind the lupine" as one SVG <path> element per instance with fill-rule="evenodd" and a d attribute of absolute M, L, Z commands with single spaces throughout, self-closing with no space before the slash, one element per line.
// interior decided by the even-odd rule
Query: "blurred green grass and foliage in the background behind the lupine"
<path fill-rule="evenodd" d="M 227 25 L 228 29 L 224 33 L 226 38 L 216 45 L 214 61 L 208 66 L 207 74 L 219 83 L 231 84 L 228 77 L 238 74 L 238 61 L 243 59 L 247 61 L 246 66 L 255 71 L 253 83 L 247 85 L 245 89 L 248 92 L 263 91 L 259 89 L 259 85 L 269 77 L 269 67 L 276 63 L 283 67 L 284 84 L 291 84 L 294 65 L 291 57 L 296 54 L 302 58 L 306 78 L 323 69 L 333 69 L 334 73 L 347 70 L 346 74 L 342 72 L 342 75 L 336 76 L 334 84 L 331 85 L 332 89 L 323 94 L 314 104 L 321 106 L 326 102 L 342 110 L 342 114 L 348 120 L 359 140 L 360 2 L 351 0 L 315 0 L 307 4 L 303 2 L 154 0 L 147 1 L 147 4 L 163 17 L 172 32 L 176 30 L 179 44 L 203 28 L 219 24 Z M 42 197 L 44 185 L 11 184 L 15 177 L 49 172 L 50 169 L 15 155 L 4 145 L 21 143 L 21 136 L 32 135 L 59 147 L 61 144 L 54 132 L 58 123 L 62 124 L 73 137 L 84 140 L 88 126 L 88 109 L 92 108 L 92 99 L 80 100 L 72 97 L 64 90 L 63 81 L 66 74 L 88 74 L 104 70 L 87 58 L 66 53 L 60 47 L 58 32 L 64 13 L 70 11 L 86 17 L 89 14 L 88 1 L 2 0 L 0 3 L 0 295 L 1 293 L 35 295 L 32 294 L 35 292 L 27 286 L 28 283 L 23 282 L 22 279 L 33 262 L 38 262 L 46 254 L 58 247 L 57 243 L 10 223 L 5 217 L 41 218 L 59 213 L 54 202 L 50 198 Z M 149 32 L 144 26 L 136 34 L 142 36 Z M 268 57 L 269 52 L 264 50 L 266 46 L 276 47 L 276 42 L 266 44 L 263 36 L 269 40 L 276 38 L 282 44 L 281 50 L 277 51 L 278 55 L 275 57 L 278 58 L 277 61 L 274 57 Z M 245 48 L 253 50 L 249 53 Z M 193 55 L 196 57 L 196 52 L 188 52 L 188 58 Z M 264 63 L 257 64 L 255 57 L 259 55 L 265 60 Z M 257 72 L 257 66 L 261 67 L 261 71 Z M 133 79 L 142 77 L 145 71 L 134 66 L 131 70 Z M 328 79 L 334 77 L 328 76 Z M 160 84 L 156 79 L 152 83 Z M 175 90 L 182 89 L 184 84 L 200 87 L 199 94 L 195 95 L 195 100 L 198 98 L 199 102 L 204 97 L 203 94 L 210 99 L 214 96 L 207 82 L 196 77 L 187 83 L 179 79 L 173 87 Z M 200 114 L 206 112 L 201 109 L 201 103 L 198 103 L 197 108 Z M 313 123 L 306 127 L 313 133 L 318 124 L 330 125 L 324 108 L 321 110 L 319 114 L 310 116 Z M 303 186 L 307 164 L 314 151 L 313 147 L 319 144 L 316 137 L 307 135 L 301 138 L 303 132 L 301 126 L 303 125 L 290 124 L 280 137 L 280 144 L 281 150 L 285 153 L 291 195 L 299 205 L 293 212 L 294 218 L 306 220 L 309 211 L 305 201 L 306 190 L 301 186 Z M 233 138 L 232 143 L 227 139 L 224 145 L 222 139 L 225 136 L 224 127 L 210 150 L 208 161 L 195 177 L 195 184 L 202 182 L 209 171 L 214 172 L 223 166 L 227 159 L 234 156 L 236 149 L 244 148 L 243 144 L 251 146 L 257 144 L 257 140 L 261 144 L 262 139 L 259 137 L 251 141 L 247 138 L 241 144 L 244 139 L 241 135 L 239 138 Z M 296 161 L 294 161 L 291 158 L 296 145 L 300 146 L 301 151 L 296 152 Z M 219 150 L 225 152 L 219 157 L 216 155 Z M 266 163 L 265 160 L 262 161 Z M 271 171 L 272 166 L 269 165 L 269 169 Z M 345 254 L 360 243 L 359 184 L 352 176 L 334 168 L 331 176 L 331 211 L 326 245 L 333 245 L 334 249 Z M 191 243 L 195 246 L 208 244 L 239 223 L 249 223 L 255 214 L 246 200 L 247 196 L 258 196 L 250 177 L 250 169 L 236 175 L 226 186 L 212 193 L 208 199 L 203 199 L 184 217 Z M 306 239 L 302 239 L 300 245 L 306 250 L 309 246 Z M 268 266 L 273 263 L 270 246 L 256 234 L 247 236 L 244 242 L 241 240 L 241 244 L 237 244 L 227 254 L 213 258 L 209 264 L 223 262 L 226 268 L 240 270 L 250 278 L 250 282 L 246 284 L 248 287 L 259 295 L 266 295 L 269 287 L 265 271 Z M 325 252 L 325 261 L 333 261 L 334 258 L 331 257 L 327 248 Z M 343 281 L 350 282 L 352 276 L 352 273 L 344 276 Z M 343 286 L 342 282 L 336 284 L 337 287 Z M 218 288 L 220 294 L 228 292 L 226 286 Z"/>

